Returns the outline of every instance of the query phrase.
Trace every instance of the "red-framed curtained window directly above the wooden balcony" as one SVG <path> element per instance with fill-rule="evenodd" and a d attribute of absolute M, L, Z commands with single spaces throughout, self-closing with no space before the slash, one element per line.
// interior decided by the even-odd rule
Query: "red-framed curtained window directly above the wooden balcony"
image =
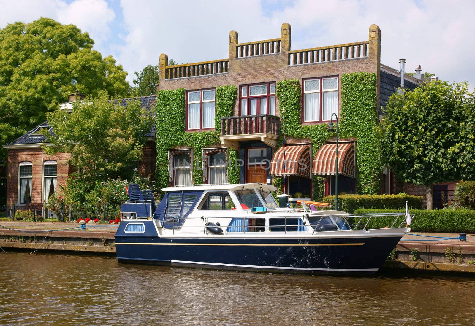
<path fill-rule="evenodd" d="M 276 115 L 276 83 L 242 85 L 239 92 L 241 115 Z"/>

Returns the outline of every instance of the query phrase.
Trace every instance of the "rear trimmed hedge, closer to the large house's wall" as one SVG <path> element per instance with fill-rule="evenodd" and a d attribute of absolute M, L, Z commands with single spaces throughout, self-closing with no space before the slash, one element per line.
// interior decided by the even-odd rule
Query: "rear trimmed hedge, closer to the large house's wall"
<path fill-rule="evenodd" d="M 400 209 L 406 207 L 421 209 L 422 196 L 400 195 L 340 195 L 338 196 L 338 206 L 341 211 L 354 213 L 358 208 L 373 209 Z M 323 197 L 323 203 L 334 204 L 335 196 Z"/>

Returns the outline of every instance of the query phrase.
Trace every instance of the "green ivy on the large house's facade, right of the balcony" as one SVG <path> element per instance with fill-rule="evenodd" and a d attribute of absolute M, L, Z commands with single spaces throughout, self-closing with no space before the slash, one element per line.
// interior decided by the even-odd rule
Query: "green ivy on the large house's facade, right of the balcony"
<path fill-rule="evenodd" d="M 358 166 L 358 192 L 373 194 L 379 191 L 380 167 L 376 155 L 376 75 L 373 73 L 343 74 L 342 108 L 339 138 L 355 137 Z M 302 125 L 302 88 L 298 79 L 283 80 L 276 85 L 280 118 L 284 118 L 285 135 L 307 138 L 313 143 L 314 154 L 323 141 L 334 137 L 327 124 Z M 314 199 L 323 198 L 324 177 L 314 177 Z M 282 191 L 282 190 L 281 190 Z"/>

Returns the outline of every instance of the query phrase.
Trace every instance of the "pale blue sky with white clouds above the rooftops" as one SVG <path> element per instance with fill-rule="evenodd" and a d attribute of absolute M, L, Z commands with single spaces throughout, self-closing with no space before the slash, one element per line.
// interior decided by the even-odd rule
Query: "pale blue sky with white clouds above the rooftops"
<path fill-rule="evenodd" d="M 280 37 L 292 26 L 292 50 L 368 40 L 381 29 L 381 63 L 416 65 L 450 82 L 475 85 L 475 1 L 439 0 L 0 0 L 0 28 L 49 17 L 75 24 L 129 73 L 158 65 L 228 57 L 229 31 L 239 42 Z"/>

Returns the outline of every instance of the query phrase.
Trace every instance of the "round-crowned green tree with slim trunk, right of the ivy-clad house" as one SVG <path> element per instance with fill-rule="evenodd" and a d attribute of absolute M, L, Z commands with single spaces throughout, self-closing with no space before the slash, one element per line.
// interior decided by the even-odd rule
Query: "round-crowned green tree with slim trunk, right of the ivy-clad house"
<path fill-rule="evenodd" d="M 474 93 L 467 83 L 437 81 L 394 93 L 378 127 L 379 150 L 401 181 L 427 187 L 475 177 Z"/>

